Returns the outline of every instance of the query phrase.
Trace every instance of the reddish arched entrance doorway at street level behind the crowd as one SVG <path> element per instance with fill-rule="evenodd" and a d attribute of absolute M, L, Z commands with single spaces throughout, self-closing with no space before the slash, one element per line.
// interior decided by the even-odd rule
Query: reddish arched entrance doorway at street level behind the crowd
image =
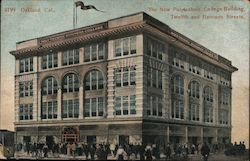
<path fill-rule="evenodd" d="M 79 142 L 79 129 L 75 127 L 66 127 L 63 129 L 62 142 Z"/>

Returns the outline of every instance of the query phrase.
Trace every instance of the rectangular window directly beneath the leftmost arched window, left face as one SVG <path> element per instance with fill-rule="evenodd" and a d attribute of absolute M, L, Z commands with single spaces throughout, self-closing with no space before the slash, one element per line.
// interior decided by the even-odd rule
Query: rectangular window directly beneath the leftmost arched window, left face
<path fill-rule="evenodd" d="M 42 119 L 57 118 L 57 101 L 42 102 Z"/>

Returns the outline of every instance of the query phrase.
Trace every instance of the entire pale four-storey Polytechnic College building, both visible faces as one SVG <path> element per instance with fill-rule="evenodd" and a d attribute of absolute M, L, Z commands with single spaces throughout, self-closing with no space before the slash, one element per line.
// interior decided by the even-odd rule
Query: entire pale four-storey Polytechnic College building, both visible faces
<path fill-rule="evenodd" d="M 147 15 L 17 43 L 17 143 L 231 138 L 231 61 Z"/>

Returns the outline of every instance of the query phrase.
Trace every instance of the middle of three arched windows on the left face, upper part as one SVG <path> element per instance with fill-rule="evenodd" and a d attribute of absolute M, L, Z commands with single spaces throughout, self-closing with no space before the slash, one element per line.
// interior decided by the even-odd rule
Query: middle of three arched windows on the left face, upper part
<path fill-rule="evenodd" d="M 76 74 L 68 74 L 63 79 L 63 92 L 78 92 L 79 91 L 79 79 Z"/>

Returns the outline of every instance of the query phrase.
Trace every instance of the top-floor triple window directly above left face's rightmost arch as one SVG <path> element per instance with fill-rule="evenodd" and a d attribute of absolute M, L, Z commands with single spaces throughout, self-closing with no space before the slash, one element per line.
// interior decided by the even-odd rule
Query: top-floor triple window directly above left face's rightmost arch
<path fill-rule="evenodd" d="M 84 62 L 102 60 L 104 59 L 104 55 L 104 43 L 91 44 L 84 47 Z"/>

